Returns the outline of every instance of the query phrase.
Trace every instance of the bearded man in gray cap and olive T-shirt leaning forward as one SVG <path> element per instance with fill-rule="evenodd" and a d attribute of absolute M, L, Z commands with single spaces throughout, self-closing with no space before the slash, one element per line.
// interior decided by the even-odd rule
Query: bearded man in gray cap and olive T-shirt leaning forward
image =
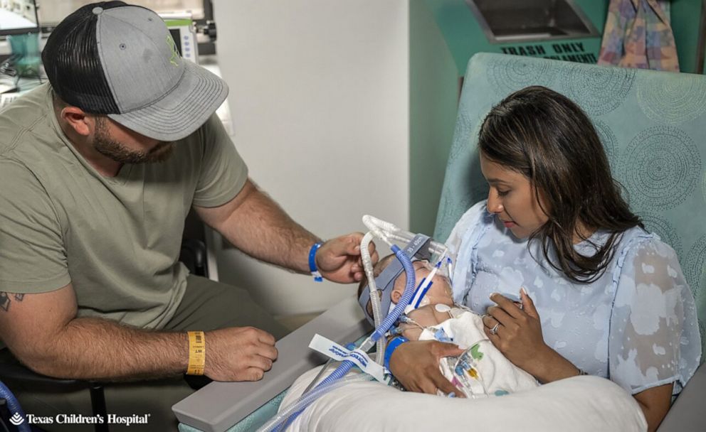
<path fill-rule="evenodd" d="M 189 209 L 252 257 L 342 283 L 362 277 L 361 234 L 319 247 L 253 185 L 214 114 L 226 84 L 154 12 L 84 6 L 42 59 L 51 85 L 0 114 L 0 348 L 52 377 L 160 379 L 107 386 L 108 412 L 174 428 L 181 374 L 260 379 L 285 334 L 247 291 L 177 261 Z M 28 413 L 90 414 L 88 392 L 12 388 Z"/>

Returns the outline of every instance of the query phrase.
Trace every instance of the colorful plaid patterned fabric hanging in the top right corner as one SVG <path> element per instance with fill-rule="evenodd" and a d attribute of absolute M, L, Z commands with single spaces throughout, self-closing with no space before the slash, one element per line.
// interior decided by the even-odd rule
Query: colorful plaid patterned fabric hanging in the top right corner
<path fill-rule="evenodd" d="M 679 72 L 668 0 L 611 0 L 599 65 Z"/>

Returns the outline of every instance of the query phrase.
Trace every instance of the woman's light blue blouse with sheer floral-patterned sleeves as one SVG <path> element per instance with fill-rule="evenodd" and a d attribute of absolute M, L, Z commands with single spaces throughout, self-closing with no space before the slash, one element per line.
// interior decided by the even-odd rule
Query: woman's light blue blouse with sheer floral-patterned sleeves
<path fill-rule="evenodd" d="M 589 240 L 604 244 L 600 230 Z M 455 268 L 453 296 L 477 313 L 493 292 L 517 296 L 524 286 L 542 320 L 544 342 L 589 374 L 631 394 L 674 382 L 678 394 L 699 365 L 694 298 L 675 252 L 639 227 L 624 232 L 605 273 L 576 284 L 549 265 L 539 242 L 515 238 L 479 202 L 447 242 Z M 575 245 L 593 254 L 589 242 Z"/>

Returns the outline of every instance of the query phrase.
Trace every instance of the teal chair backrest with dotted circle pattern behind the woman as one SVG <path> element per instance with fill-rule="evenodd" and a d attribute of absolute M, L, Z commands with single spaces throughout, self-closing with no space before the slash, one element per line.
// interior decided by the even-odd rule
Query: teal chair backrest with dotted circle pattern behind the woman
<path fill-rule="evenodd" d="M 706 77 L 701 75 L 474 55 L 463 82 L 434 237 L 446 240 L 465 210 L 487 198 L 478 129 L 493 105 L 529 85 L 560 92 L 589 114 L 632 210 L 678 254 L 706 344 Z"/>

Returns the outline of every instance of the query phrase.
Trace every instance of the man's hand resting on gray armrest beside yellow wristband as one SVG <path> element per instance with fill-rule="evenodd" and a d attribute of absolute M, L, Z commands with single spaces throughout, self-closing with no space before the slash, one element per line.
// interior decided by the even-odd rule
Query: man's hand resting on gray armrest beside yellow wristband
<path fill-rule="evenodd" d="M 204 374 L 214 381 L 259 381 L 277 359 L 275 338 L 253 327 L 206 332 Z"/>

